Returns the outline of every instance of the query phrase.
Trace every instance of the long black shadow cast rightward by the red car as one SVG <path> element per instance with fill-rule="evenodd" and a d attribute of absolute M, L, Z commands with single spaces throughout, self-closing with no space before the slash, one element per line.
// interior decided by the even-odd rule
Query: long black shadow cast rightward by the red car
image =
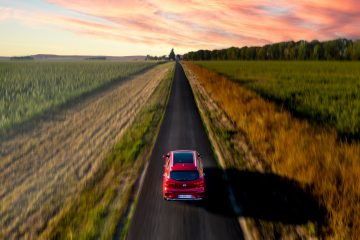
<path fill-rule="evenodd" d="M 228 180 L 225 180 L 225 172 Z M 309 187 L 271 173 L 219 168 L 205 169 L 206 199 L 185 204 L 205 208 L 215 214 L 245 216 L 285 224 L 304 224 L 308 221 L 322 225 L 325 210 L 310 194 Z M 230 201 L 240 207 L 235 212 Z"/>

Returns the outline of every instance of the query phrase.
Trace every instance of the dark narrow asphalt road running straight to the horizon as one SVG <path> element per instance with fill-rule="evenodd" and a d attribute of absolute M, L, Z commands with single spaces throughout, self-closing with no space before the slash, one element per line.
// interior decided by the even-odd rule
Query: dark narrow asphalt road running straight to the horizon
<path fill-rule="evenodd" d="M 202 202 L 168 202 L 162 198 L 162 155 L 170 150 L 201 153 L 207 183 Z M 176 64 L 171 96 L 130 225 L 128 239 L 243 239 L 228 199 L 194 97 L 180 64 Z"/>

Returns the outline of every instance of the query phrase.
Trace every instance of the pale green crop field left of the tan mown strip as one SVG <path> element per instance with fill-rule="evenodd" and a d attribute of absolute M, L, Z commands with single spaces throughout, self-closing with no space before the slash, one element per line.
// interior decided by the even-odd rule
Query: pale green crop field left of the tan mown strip
<path fill-rule="evenodd" d="M 156 62 L 0 62 L 0 131 Z"/>

